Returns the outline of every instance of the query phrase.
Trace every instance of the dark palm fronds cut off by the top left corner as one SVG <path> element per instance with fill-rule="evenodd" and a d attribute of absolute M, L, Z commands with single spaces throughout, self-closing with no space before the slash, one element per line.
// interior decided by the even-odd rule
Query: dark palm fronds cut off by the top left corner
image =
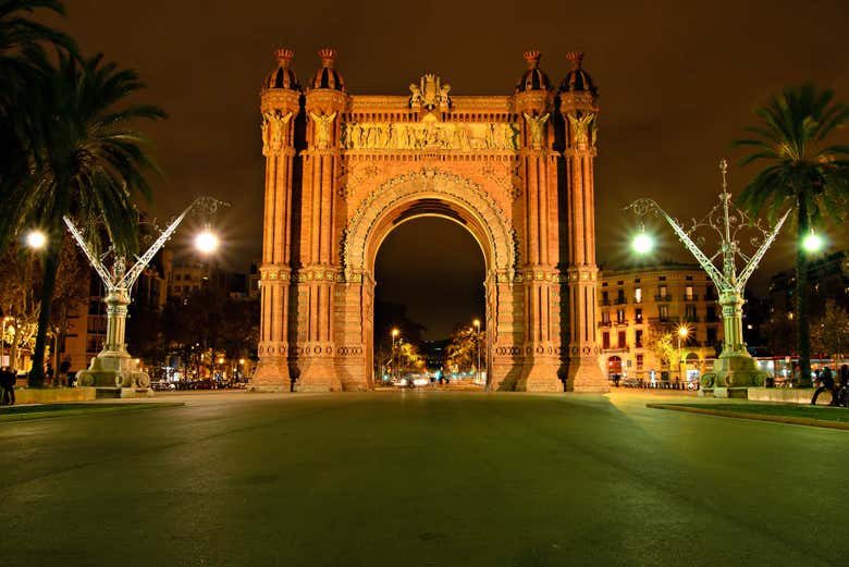
<path fill-rule="evenodd" d="M 27 87 L 47 61 L 46 46 L 76 56 L 76 44 L 67 35 L 33 22 L 37 9 L 64 15 L 57 0 L 0 0 L 0 184 L 16 184 L 29 167 L 29 144 L 25 135 L 28 116 L 19 101 L 33 96 Z M 0 241 L 0 249 L 8 244 Z"/>

